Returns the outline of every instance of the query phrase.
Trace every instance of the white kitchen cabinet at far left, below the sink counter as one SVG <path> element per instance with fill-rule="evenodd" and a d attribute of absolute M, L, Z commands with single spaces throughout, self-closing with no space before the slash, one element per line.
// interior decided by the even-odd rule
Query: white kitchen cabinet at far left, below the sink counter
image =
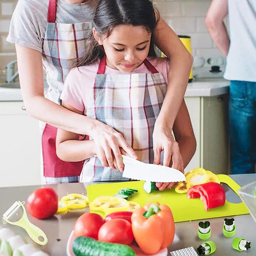
<path fill-rule="evenodd" d="M 0 187 L 41 183 L 40 140 L 22 101 L 0 102 Z"/>

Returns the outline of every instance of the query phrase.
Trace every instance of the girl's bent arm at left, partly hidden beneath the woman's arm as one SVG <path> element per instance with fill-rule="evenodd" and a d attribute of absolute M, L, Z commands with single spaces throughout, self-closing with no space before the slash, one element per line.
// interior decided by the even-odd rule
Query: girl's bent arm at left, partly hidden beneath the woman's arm
<path fill-rule="evenodd" d="M 77 114 L 83 115 L 83 112 L 64 101 L 62 101 L 62 106 Z M 61 160 L 66 162 L 78 162 L 96 154 L 95 143 L 93 140 L 78 140 L 78 137 L 79 135 L 76 133 L 58 129 L 56 137 L 56 154 Z"/>

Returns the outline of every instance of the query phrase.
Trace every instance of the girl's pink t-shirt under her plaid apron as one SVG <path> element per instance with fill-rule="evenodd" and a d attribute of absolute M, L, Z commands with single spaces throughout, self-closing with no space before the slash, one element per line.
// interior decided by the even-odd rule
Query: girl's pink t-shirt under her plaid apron
<path fill-rule="evenodd" d="M 167 84 L 169 61 L 165 58 L 148 58 L 148 61 L 157 69 L 159 73 L 162 73 L 164 80 Z M 90 91 L 94 85 L 95 76 L 98 71 L 100 61 L 87 66 L 81 66 L 73 68 L 68 73 L 68 76 L 64 83 L 63 91 L 60 95 L 60 99 L 82 111 L 86 115 L 86 106 Z M 150 71 L 144 63 L 140 67 L 136 68 L 132 73 L 144 73 L 148 74 Z M 105 74 L 125 74 L 117 69 L 109 68 L 106 66 Z"/>

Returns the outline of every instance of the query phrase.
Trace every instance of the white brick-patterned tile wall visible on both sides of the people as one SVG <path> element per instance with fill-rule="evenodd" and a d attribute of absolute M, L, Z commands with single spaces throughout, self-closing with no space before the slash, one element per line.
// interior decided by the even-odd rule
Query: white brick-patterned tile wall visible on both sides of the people
<path fill-rule="evenodd" d="M 191 36 L 192 54 L 221 55 L 204 24 L 211 0 L 154 0 L 158 11 L 177 33 Z M 0 0 L 0 76 L 6 63 L 16 58 L 15 48 L 5 41 L 17 0 Z"/>

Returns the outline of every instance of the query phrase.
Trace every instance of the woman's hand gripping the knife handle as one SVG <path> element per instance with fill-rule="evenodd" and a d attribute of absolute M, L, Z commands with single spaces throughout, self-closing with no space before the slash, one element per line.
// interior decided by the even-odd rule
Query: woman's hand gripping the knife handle
<path fill-rule="evenodd" d="M 121 149 L 130 157 L 138 158 L 123 135 L 107 124 L 95 120 L 91 136 L 95 143 L 95 153 L 105 167 L 117 169 L 120 172 L 124 171 Z"/>

